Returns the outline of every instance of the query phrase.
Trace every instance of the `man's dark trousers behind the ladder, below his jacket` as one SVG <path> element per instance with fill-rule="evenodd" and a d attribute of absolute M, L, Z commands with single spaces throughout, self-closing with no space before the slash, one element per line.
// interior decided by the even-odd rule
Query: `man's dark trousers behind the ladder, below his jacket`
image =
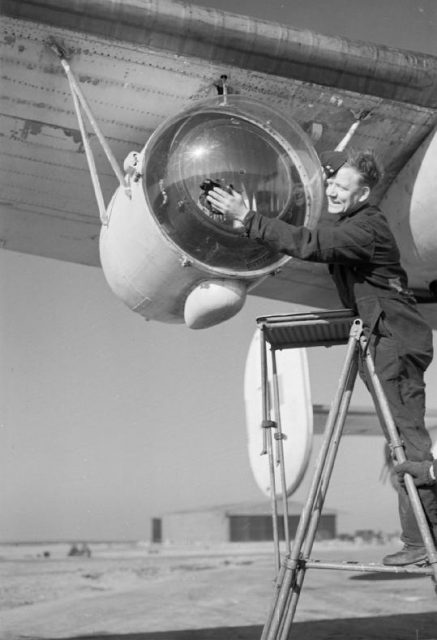
<path fill-rule="evenodd" d="M 424 421 L 424 373 L 432 359 L 432 333 L 428 328 L 421 333 L 419 324 L 415 332 L 400 339 L 380 323 L 370 336 L 369 349 L 407 459 L 432 460 L 432 442 Z M 366 383 L 362 364 L 360 375 Z M 388 434 L 384 435 L 388 439 Z M 423 546 L 406 489 L 397 483 L 397 490 L 401 539 L 405 544 Z M 418 492 L 434 540 L 437 541 L 437 485 L 420 487 Z"/>

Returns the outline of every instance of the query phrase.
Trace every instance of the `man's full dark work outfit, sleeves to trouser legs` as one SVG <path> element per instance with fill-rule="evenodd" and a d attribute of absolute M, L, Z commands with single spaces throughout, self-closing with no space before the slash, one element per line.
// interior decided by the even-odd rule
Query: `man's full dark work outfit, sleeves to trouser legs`
<path fill-rule="evenodd" d="M 281 253 L 328 263 L 342 304 L 363 321 L 407 459 L 432 460 L 424 422 L 424 372 L 433 356 L 432 331 L 407 289 L 399 249 L 381 211 L 365 204 L 342 217 L 322 219 L 314 230 L 251 211 L 244 226 L 248 237 Z M 437 539 L 437 485 L 419 488 L 419 495 Z M 402 541 L 423 546 L 404 487 L 399 486 L 398 496 Z"/>

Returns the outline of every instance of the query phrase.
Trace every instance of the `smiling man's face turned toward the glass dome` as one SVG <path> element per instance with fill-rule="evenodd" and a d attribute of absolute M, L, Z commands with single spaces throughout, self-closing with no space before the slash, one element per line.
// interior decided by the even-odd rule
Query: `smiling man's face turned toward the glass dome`
<path fill-rule="evenodd" d="M 366 202 L 370 194 L 361 176 L 352 167 L 343 165 L 335 175 L 326 181 L 328 212 L 340 215 L 352 213 Z"/>

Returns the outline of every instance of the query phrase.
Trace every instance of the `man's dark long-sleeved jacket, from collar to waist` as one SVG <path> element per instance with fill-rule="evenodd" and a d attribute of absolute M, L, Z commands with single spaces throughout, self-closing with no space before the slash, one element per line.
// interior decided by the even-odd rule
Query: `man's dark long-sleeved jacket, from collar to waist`
<path fill-rule="evenodd" d="M 396 240 L 377 207 L 365 204 L 352 214 L 332 215 L 313 230 L 251 211 L 244 226 L 250 238 L 281 253 L 327 263 L 343 305 L 361 317 L 369 333 L 388 332 L 401 352 L 418 350 L 423 366 L 429 364 L 432 333 L 416 309 Z"/>

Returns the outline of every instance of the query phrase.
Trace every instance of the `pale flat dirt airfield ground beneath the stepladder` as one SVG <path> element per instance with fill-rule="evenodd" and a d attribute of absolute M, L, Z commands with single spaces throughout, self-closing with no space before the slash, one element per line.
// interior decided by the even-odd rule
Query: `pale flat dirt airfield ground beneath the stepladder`
<path fill-rule="evenodd" d="M 258 640 L 275 579 L 271 544 L 215 548 L 0 548 L 2 640 Z M 313 558 L 378 562 L 382 545 L 323 543 Z M 291 638 L 437 640 L 428 576 L 309 569 Z"/>

